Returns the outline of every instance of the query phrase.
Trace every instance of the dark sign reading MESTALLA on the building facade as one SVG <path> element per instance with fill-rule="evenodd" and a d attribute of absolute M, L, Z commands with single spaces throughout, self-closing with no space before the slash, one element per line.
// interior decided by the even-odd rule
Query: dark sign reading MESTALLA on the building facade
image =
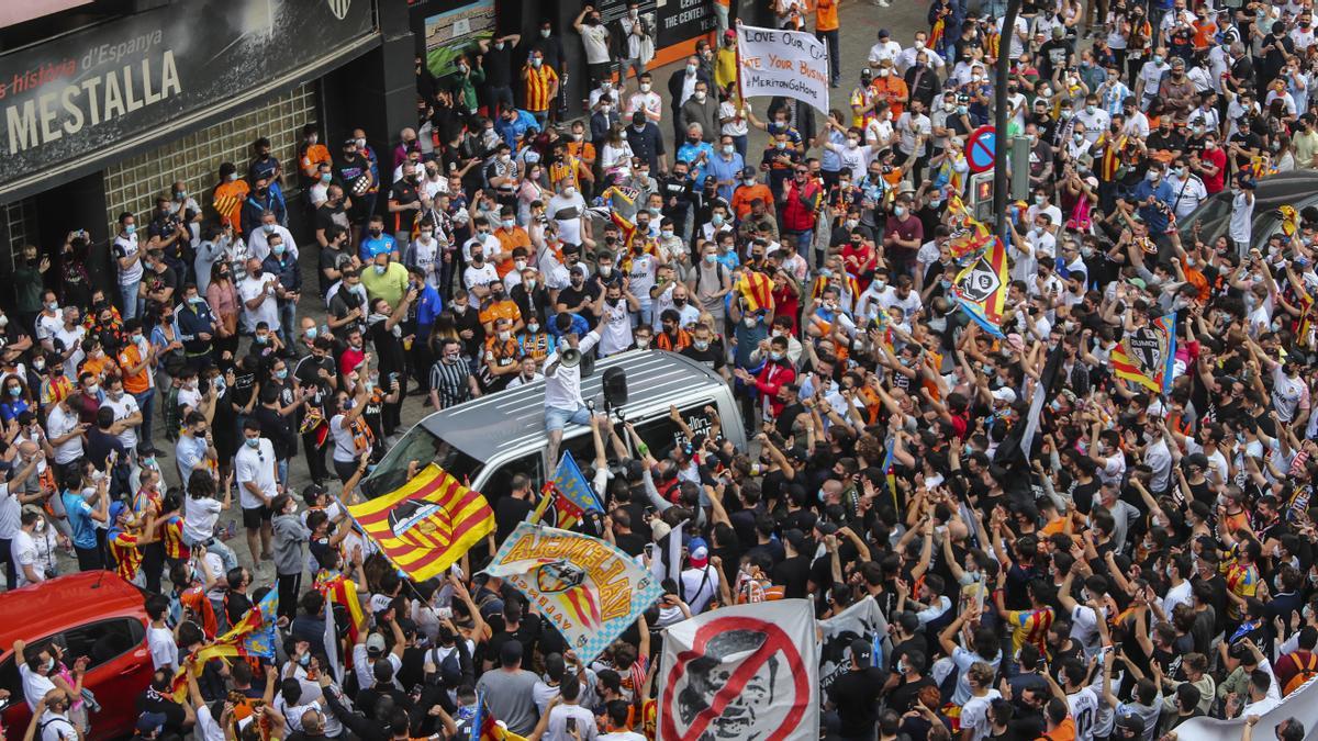
<path fill-rule="evenodd" d="M 253 104 L 374 36 L 370 0 L 186 0 L 0 55 L 0 198 Z"/>

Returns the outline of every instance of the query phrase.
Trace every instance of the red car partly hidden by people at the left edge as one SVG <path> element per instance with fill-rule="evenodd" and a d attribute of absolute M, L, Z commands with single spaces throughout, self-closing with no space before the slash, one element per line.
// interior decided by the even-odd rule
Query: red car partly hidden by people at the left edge
<path fill-rule="evenodd" d="M 152 683 L 152 655 L 146 647 L 145 597 L 141 589 L 109 571 L 87 571 L 0 593 L 0 688 L 9 691 L 4 728 L 21 738 L 32 720 L 13 642 L 28 650 L 61 636 L 69 661 L 88 657 L 83 687 L 100 703 L 91 716 L 91 736 L 130 736 L 137 723 L 137 697 Z"/>

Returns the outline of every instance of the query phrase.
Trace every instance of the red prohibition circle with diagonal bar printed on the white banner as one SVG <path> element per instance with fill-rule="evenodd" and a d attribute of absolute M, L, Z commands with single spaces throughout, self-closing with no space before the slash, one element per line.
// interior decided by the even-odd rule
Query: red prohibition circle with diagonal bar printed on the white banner
<path fill-rule="evenodd" d="M 764 643 L 755 651 L 755 654 L 747 658 L 737 671 L 729 678 L 728 684 L 724 686 L 716 695 L 713 701 L 708 708 L 701 711 L 699 716 L 692 721 L 691 726 L 687 728 L 685 734 L 679 734 L 676 726 L 673 725 L 672 713 L 668 712 L 667 704 L 672 699 L 672 692 L 677 686 L 677 682 L 685 674 L 687 665 L 696 658 L 705 655 L 705 646 L 709 641 L 725 633 L 728 630 L 751 630 L 755 633 L 763 633 L 767 636 Z M 720 617 L 712 620 L 696 630 L 696 639 L 688 651 L 677 654 L 677 659 L 668 674 L 668 680 L 664 684 L 664 705 L 660 708 L 662 717 L 659 719 L 659 737 L 664 741 L 677 741 L 679 738 L 699 738 L 705 728 L 713 723 L 713 720 L 724 713 L 728 704 L 737 697 L 741 691 L 746 687 L 746 682 L 759 671 L 759 667 L 768 662 L 775 654 L 782 651 L 787 658 L 787 665 L 793 678 L 795 691 L 797 697 L 804 697 L 804 703 L 797 703 L 792 712 L 787 715 L 782 725 L 774 730 L 766 741 L 783 741 L 787 736 L 796 730 L 796 725 L 801 721 L 805 715 L 807 704 L 809 703 L 811 687 L 809 676 L 805 671 L 804 662 L 801 661 L 800 651 L 796 650 L 796 645 L 792 639 L 783 633 L 783 629 L 772 622 L 766 622 L 763 620 L 757 620 L 754 617 Z"/>

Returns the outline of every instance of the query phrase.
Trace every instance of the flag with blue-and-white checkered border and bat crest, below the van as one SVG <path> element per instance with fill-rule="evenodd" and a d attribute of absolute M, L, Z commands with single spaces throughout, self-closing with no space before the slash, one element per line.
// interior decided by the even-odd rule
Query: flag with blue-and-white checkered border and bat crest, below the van
<path fill-rule="evenodd" d="M 526 595 L 583 663 L 659 599 L 659 580 L 600 538 L 521 522 L 485 568 Z"/>

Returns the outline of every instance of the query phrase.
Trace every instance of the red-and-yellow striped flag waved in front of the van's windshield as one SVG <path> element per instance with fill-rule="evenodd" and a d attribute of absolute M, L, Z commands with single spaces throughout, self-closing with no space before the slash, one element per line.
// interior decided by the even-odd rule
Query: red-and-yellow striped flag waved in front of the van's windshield
<path fill-rule="evenodd" d="M 431 463 L 382 497 L 348 508 L 394 566 L 416 581 L 438 576 L 494 530 L 485 497 Z"/>

